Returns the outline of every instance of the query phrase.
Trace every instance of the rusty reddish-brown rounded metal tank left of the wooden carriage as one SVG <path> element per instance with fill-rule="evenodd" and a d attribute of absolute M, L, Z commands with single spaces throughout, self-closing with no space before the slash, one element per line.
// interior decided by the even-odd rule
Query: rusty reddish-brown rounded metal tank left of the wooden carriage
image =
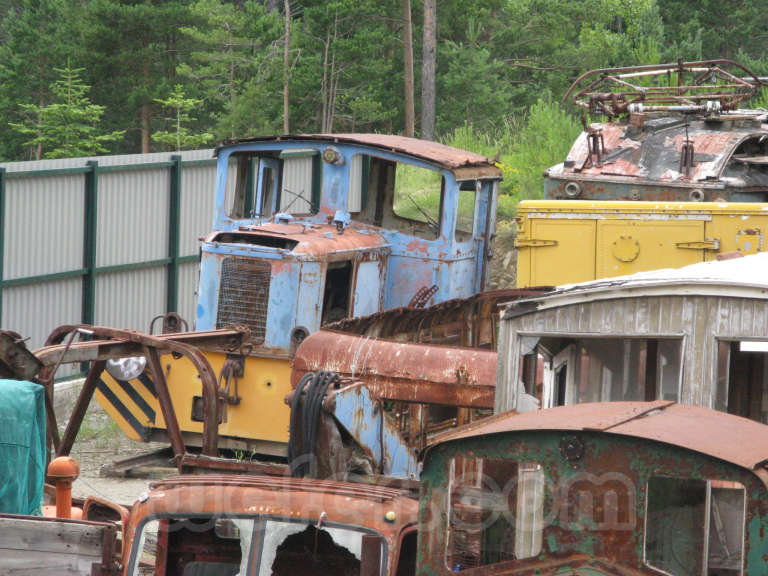
<path fill-rule="evenodd" d="M 365 382 L 381 399 L 492 408 L 496 352 L 360 338 L 320 330 L 299 346 L 295 387 L 309 372 L 326 370 Z"/>

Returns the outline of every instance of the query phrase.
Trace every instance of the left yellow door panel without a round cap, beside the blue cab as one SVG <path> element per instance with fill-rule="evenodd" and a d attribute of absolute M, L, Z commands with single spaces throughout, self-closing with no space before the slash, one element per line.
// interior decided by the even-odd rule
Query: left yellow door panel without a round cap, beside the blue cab
<path fill-rule="evenodd" d="M 520 248 L 528 253 L 530 273 L 524 286 L 557 286 L 594 278 L 595 220 L 532 218 L 533 246 Z M 555 241 L 549 244 L 547 241 Z"/>

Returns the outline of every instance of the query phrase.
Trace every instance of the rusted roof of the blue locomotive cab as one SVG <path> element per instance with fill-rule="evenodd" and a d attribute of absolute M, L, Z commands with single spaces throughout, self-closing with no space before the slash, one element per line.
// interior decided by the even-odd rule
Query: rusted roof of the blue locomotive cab
<path fill-rule="evenodd" d="M 228 140 L 223 142 L 217 149 L 218 151 L 225 146 L 243 144 L 248 142 L 330 142 L 338 144 L 360 144 L 369 146 L 387 152 L 398 154 L 407 154 L 421 160 L 426 160 L 432 164 L 441 166 L 448 170 L 458 168 L 480 168 L 484 178 L 501 178 L 501 170 L 497 168 L 491 160 L 458 148 L 452 148 L 438 142 L 428 140 L 418 140 L 406 136 L 396 136 L 391 134 L 294 134 L 284 136 L 256 136 L 253 138 L 242 138 L 239 140 Z"/>

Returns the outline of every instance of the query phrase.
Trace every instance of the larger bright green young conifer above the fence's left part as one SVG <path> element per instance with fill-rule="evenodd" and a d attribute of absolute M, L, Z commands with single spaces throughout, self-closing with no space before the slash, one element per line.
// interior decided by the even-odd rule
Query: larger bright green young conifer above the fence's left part
<path fill-rule="evenodd" d="M 88 98 L 90 87 L 83 83 L 82 68 L 55 68 L 59 79 L 50 86 L 52 102 L 45 106 L 22 104 L 23 123 L 10 126 L 25 138 L 26 146 L 39 146 L 44 158 L 89 156 L 107 152 L 104 144 L 122 137 L 124 131 L 102 133 L 99 122 L 105 107 Z"/>

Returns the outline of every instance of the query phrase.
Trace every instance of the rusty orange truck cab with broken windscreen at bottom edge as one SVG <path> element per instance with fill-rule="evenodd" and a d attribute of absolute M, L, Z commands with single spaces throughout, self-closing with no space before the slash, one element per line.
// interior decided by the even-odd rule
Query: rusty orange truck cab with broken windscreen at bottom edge
<path fill-rule="evenodd" d="M 169 478 L 139 498 L 124 576 L 411 576 L 407 491 L 261 477 Z"/>

